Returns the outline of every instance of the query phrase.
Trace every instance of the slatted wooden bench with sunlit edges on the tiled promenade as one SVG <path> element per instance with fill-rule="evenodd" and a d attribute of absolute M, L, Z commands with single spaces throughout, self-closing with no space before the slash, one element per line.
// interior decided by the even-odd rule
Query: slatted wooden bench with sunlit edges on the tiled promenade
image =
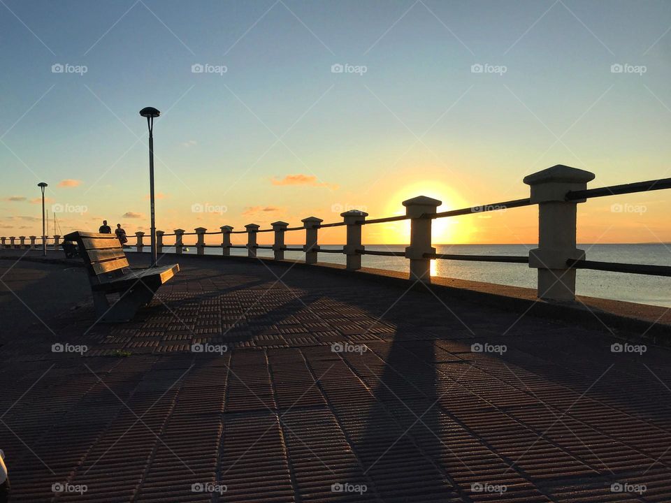
<path fill-rule="evenodd" d="M 131 270 L 121 243 L 114 234 L 75 231 L 64 236 L 76 242 L 89 272 L 96 315 L 100 321 L 129 321 L 140 307 L 154 298 L 159 286 L 179 272 L 179 264 Z M 110 303 L 107 296 L 118 293 Z"/>

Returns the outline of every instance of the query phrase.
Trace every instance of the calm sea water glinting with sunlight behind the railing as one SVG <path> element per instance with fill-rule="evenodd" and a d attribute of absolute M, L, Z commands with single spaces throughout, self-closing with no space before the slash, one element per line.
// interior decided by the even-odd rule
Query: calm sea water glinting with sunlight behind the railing
<path fill-rule="evenodd" d="M 292 245 L 295 246 L 295 245 Z M 366 249 L 375 251 L 403 251 L 406 245 L 366 245 Z M 472 255 L 528 255 L 529 249 L 536 245 L 434 245 L 439 254 Z M 588 260 L 604 262 L 640 263 L 651 265 L 671 265 L 671 245 L 578 245 L 584 249 Z M 342 249 L 342 246 L 322 245 L 324 249 Z M 174 251 L 164 247 L 164 251 Z M 195 248 L 189 247 L 188 254 L 194 254 Z M 218 248 L 205 248 L 205 254 L 220 255 Z M 231 254 L 246 256 L 247 250 L 234 248 Z M 259 256 L 273 256 L 273 251 L 259 249 Z M 300 260 L 304 254 L 287 251 L 284 256 Z M 320 262 L 345 263 L 341 254 L 319 254 Z M 407 272 L 407 260 L 403 257 L 363 256 L 363 267 Z M 536 270 L 526 264 L 493 263 L 435 260 L 431 261 L 431 274 L 434 276 L 469 279 L 472 281 L 496 283 L 512 286 L 536 287 Z M 576 291 L 578 295 L 626 300 L 642 304 L 671 307 L 671 277 L 624 274 L 580 269 L 577 271 Z"/>

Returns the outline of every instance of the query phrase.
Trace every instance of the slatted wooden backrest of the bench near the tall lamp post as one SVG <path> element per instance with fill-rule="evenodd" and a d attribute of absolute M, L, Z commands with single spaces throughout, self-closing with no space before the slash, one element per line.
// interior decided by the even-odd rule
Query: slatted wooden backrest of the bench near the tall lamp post
<path fill-rule="evenodd" d="M 124 249 L 114 234 L 75 231 L 65 235 L 64 239 L 77 243 L 92 279 L 105 282 L 122 276 L 122 269 L 129 267 Z"/>

